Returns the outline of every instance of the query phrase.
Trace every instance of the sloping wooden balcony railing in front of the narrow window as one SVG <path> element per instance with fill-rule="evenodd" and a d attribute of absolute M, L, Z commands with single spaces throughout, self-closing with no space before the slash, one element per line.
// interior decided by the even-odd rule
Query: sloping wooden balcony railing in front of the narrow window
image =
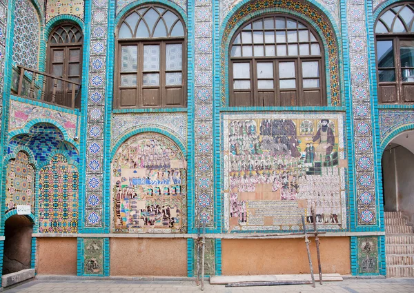
<path fill-rule="evenodd" d="M 21 65 L 17 65 L 17 68 L 20 70 L 19 86 L 17 87 L 19 97 L 40 100 L 72 109 L 80 108 L 80 83 Z M 30 83 L 29 89 L 27 89 L 27 83 Z"/>

